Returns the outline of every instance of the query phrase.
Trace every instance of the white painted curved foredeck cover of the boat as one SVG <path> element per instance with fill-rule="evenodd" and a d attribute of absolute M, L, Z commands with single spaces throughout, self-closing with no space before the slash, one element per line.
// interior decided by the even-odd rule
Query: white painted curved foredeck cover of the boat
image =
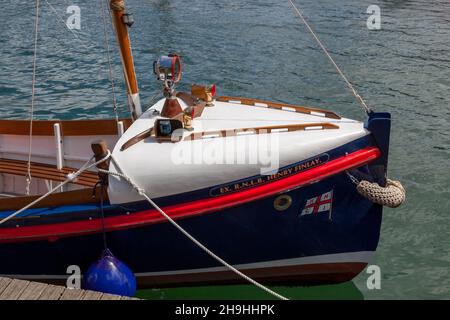
<path fill-rule="evenodd" d="M 163 103 L 164 100 L 160 100 L 153 109 L 161 110 Z M 182 101 L 180 104 L 185 107 Z M 263 159 L 258 159 L 253 163 L 246 161 L 246 164 L 236 164 L 238 155 L 248 155 L 252 148 L 269 150 L 273 147 L 272 152 L 274 153 L 270 158 L 278 158 L 276 167 L 283 167 L 324 153 L 368 134 L 362 122 L 350 119 L 330 119 L 285 110 L 216 101 L 214 107 L 205 108 L 202 116 L 193 121 L 195 132 L 316 122 L 334 123 L 339 126 L 339 129 L 243 135 L 178 143 L 160 143 L 152 137 L 120 151 L 121 146 L 129 139 L 153 127 L 154 121 L 158 117 L 152 116 L 151 110 L 147 110 L 119 139 L 113 151 L 113 156 L 124 173 L 130 176 L 150 197 L 185 193 L 261 173 L 269 173 L 267 169 L 270 167 L 270 162 L 274 164 L 276 161 L 264 163 Z M 264 144 L 266 147 L 263 146 Z M 227 145 L 233 145 L 234 148 L 227 147 Z M 189 159 L 189 156 L 186 156 L 186 152 L 189 150 L 193 151 L 192 154 L 197 155 L 191 159 L 200 161 L 187 163 L 183 160 Z M 214 157 L 214 154 L 217 155 L 220 150 L 224 150 L 224 156 Z M 198 156 L 199 152 L 202 155 L 200 157 Z M 210 156 L 208 156 L 208 152 Z M 217 163 L 217 158 L 224 160 L 222 163 Z M 235 159 L 235 161 L 231 161 L 231 159 Z M 110 170 L 117 171 L 117 168 L 111 164 Z M 109 199 L 113 204 L 142 200 L 141 196 L 132 190 L 128 183 L 114 176 L 109 177 L 108 192 Z"/>

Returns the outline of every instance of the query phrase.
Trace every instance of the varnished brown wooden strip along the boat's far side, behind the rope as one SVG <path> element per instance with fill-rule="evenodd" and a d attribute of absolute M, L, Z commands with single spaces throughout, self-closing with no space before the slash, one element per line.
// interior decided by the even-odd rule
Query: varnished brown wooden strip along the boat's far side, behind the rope
<path fill-rule="evenodd" d="M 124 129 L 131 125 L 131 119 L 120 119 Z M 117 122 L 115 119 L 97 120 L 34 120 L 33 136 L 53 136 L 53 125 L 59 123 L 63 136 L 96 136 L 117 135 Z M 28 120 L 0 120 L 0 134 L 26 135 L 30 133 Z"/>

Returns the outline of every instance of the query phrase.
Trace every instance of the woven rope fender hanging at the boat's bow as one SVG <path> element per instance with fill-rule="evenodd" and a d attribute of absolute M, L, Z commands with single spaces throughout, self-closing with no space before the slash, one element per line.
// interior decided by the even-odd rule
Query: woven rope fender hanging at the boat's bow
<path fill-rule="evenodd" d="M 406 200 L 406 191 L 400 181 L 386 179 L 386 186 L 381 187 L 376 182 L 361 180 L 357 184 L 356 190 L 373 203 L 389 208 L 397 208 Z"/>

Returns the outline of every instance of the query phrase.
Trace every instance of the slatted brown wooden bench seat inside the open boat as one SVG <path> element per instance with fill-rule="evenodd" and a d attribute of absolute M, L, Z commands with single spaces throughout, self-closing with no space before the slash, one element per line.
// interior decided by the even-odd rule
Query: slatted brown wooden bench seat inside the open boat
<path fill-rule="evenodd" d="M 0 159 L 0 173 L 14 174 L 18 176 L 27 175 L 28 162 L 23 160 L 12 159 Z M 34 178 L 52 180 L 52 181 L 64 181 L 67 179 L 67 174 L 77 171 L 75 168 L 64 167 L 61 170 L 56 166 L 42 163 L 31 163 L 31 176 Z M 93 187 L 98 181 L 98 175 L 96 172 L 85 171 L 81 173 L 78 178 L 72 183 Z"/>

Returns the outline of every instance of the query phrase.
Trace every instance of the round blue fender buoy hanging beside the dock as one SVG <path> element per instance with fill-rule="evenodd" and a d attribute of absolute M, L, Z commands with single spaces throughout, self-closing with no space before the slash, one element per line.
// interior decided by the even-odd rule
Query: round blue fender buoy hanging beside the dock
<path fill-rule="evenodd" d="M 125 263 L 105 249 L 84 273 L 83 288 L 132 297 L 136 294 L 136 278 Z"/>

